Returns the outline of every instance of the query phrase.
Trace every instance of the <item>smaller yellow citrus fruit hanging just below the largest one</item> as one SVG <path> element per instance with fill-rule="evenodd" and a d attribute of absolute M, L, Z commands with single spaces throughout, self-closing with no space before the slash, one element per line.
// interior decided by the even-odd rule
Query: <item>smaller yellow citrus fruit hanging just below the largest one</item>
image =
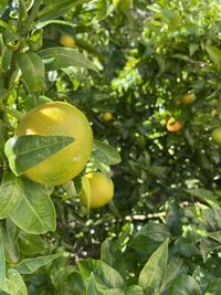
<path fill-rule="evenodd" d="M 99 208 L 108 203 L 114 196 L 114 183 L 102 172 L 87 173 L 83 178 L 87 178 L 91 187 L 91 196 L 87 196 L 83 190 L 80 194 L 80 200 L 83 204 L 90 208 Z M 90 200 L 87 200 L 90 198 Z"/>

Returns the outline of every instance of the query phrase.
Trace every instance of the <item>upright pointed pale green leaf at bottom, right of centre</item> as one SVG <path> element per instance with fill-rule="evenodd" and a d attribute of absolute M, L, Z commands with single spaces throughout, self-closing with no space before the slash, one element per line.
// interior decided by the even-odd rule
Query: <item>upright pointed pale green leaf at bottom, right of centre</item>
<path fill-rule="evenodd" d="M 139 274 L 138 284 L 144 289 L 148 287 L 158 291 L 161 286 L 162 278 L 167 270 L 168 259 L 168 243 L 167 239 L 149 257 L 148 262 Z"/>

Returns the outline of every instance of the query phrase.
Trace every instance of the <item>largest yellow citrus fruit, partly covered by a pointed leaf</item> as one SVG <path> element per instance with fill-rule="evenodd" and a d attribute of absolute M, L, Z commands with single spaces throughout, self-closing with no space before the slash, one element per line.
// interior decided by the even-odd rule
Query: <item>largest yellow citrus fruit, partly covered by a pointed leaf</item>
<path fill-rule="evenodd" d="M 52 102 L 34 108 L 19 123 L 15 135 L 75 138 L 72 144 L 25 171 L 30 179 L 49 186 L 62 185 L 77 176 L 92 150 L 90 123 L 78 108 L 67 103 Z"/>

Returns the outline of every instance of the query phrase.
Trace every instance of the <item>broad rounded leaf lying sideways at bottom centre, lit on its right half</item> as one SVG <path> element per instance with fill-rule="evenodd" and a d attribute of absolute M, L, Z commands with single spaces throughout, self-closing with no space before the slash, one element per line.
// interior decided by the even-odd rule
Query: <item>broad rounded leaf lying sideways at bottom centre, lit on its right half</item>
<path fill-rule="evenodd" d="M 124 280 L 120 274 L 103 261 L 87 259 L 78 263 L 80 273 L 83 278 L 88 278 L 94 273 L 96 282 L 106 286 L 106 288 L 120 288 L 124 286 Z"/>

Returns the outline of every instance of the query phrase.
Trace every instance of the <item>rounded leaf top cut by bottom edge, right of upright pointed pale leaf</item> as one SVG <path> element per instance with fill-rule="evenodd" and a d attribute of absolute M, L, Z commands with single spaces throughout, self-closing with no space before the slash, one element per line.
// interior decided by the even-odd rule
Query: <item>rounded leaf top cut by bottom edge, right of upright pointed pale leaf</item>
<path fill-rule="evenodd" d="M 169 295 L 201 295 L 201 289 L 199 284 L 193 277 L 181 274 L 172 283 L 169 291 Z"/>

